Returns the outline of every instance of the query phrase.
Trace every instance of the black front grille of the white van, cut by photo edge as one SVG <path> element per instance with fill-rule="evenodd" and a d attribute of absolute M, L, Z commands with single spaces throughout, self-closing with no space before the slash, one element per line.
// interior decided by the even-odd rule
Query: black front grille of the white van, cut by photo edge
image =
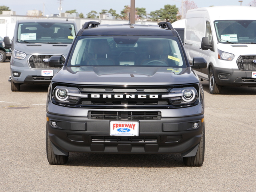
<path fill-rule="evenodd" d="M 252 62 L 256 60 L 256 55 L 242 55 L 237 60 L 237 65 L 240 70 L 255 71 L 256 63 Z"/>

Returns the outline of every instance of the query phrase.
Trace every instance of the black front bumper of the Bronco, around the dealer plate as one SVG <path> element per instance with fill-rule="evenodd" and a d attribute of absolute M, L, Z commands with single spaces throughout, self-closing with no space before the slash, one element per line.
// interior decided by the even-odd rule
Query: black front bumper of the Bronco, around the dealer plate
<path fill-rule="evenodd" d="M 195 156 L 204 127 L 204 114 L 139 120 L 139 136 L 110 136 L 110 120 L 47 113 L 47 129 L 54 154 L 68 152 L 158 154 Z M 57 122 L 52 126 L 51 122 Z M 127 121 L 127 120 L 126 120 Z M 198 127 L 193 128 L 193 123 Z"/>

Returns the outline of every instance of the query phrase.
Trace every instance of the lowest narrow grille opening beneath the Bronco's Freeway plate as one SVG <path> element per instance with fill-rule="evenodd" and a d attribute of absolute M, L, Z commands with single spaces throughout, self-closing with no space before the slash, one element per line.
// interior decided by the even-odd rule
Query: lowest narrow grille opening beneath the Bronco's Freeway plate
<path fill-rule="evenodd" d="M 116 136 L 92 136 L 92 142 L 150 142 L 156 143 L 158 137 L 156 136 L 143 136 L 143 137 L 116 137 Z"/>

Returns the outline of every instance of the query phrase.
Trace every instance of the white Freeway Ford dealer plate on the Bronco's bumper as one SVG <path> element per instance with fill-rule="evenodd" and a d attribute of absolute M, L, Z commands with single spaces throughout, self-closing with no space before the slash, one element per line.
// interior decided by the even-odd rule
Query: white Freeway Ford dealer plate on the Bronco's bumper
<path fill-rule="evenodd" d="M 110 136 L 139 136 L 138 121 L 110 121 Z"/>

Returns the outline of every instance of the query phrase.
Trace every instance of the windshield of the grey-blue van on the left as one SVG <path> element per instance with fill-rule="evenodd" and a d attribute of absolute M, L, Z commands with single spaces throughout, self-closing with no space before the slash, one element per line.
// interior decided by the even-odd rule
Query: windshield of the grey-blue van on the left
<path fill-rule="evenodd" d="M 20 23 L 17 41 L 20 43 L 72 43 L 75 35 L 75 27 L 69 23 Z"/>

